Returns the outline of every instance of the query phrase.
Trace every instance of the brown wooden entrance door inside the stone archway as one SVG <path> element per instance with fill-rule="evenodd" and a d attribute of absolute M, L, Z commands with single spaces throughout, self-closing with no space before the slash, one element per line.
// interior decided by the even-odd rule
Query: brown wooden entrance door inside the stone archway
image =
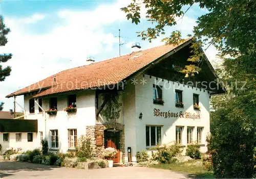
<path fill-rule="evenodd" d="M 105 148 L 112 147 L 117 149 L 117 154 L 111 160 L 114 163 L 120 162 L 120 133 L 119 132 L 111 132 L 111 131 L 104 131 L 104 145 Z"/>

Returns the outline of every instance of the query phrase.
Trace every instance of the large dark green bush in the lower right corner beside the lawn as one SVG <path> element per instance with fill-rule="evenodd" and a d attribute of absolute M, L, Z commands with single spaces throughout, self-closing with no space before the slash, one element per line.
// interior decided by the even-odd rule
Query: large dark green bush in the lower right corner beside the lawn
<path fill-rule="evenodd" d="M 252 178 L 256 173 L 256 161 L 253 161 L 256 120 L 246 118 L 243 112 L 234 113 L 229 106 L 216 111 L 216 118 L 212 118 L 215 126 L 207 138 L 212 167 L 216 178 Z M 241 106 L 236 107 L 236 112 Z"/>

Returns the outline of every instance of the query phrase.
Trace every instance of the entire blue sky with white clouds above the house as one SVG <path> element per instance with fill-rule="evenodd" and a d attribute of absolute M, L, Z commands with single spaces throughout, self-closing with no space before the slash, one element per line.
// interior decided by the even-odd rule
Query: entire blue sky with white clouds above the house
<path fill-rule="evenodd" d="M 12 73 L 0 83 L 0 101 L 4 110 L 13 109 L 9 93 L 38 82 L 61 70 L 84 65 L 87 57 L 96 61 L 117 57 L 119 54 L 118 29 L 121 29 L 121 55 L 131 53 L 132 43 L 139 42 L 142 49 L 161 45 L 160 37 L 152 43 L 141 41 L 136 32 L 145 30 L 145 18 L 139 25 L 127 21 L 121 7 L 129 0 L 119 1 L 2 1 L 1 13 L 11 29 L 8 43 L 0 53 L 12 53 L 13 58 L 3 64 L 12 66 Z M 198 16 L 206 11 L 197 5 L 190 8 L 167 34 L 180 30 L 185 38 L 192 34 Z M 142 11 L 145 15 L 145 9 Z M 216 49 L 209 48 L 206 55 L 215 59 Z M 23 96 L 17 97 L 23 106 Z M 22 109 L 17 107 L 17 111 Z"/>

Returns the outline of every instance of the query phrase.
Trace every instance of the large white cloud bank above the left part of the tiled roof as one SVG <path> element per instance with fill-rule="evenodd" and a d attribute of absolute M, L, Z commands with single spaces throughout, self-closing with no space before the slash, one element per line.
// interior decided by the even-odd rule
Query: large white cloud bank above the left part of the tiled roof
<path fill-rule="evenodd" d="M 106 33 L 103 26 L 124 21 L 126 18 L 120 8 L 126 5 L 127 1 L 120 0 L 112 5 L 100 5 L 91 11 L 59 10 L 47 14 L 62 19 L 63 23 L 42 34 L 33 34 L 24 25 L 36 25 L 38 20 L 46 17 L 44 14 L 33 14 L 26 18 L 5 16 L 11 33 L 0 53 L 12 53 L 13 57 L 3 64 L 12 67 L 11 75 L 0 83 L 0 101 L 5 102 L 4 110 L 13 107 L 13 99 L 5 98 L 7 94 L 61 70 L 84 65 L 88 56 L 110 53 L 118 39 Z M 18 98 L 18 103 L 23 104 L 22 97 Z M 20 108 L 17 107 L 17 110 Z"/>

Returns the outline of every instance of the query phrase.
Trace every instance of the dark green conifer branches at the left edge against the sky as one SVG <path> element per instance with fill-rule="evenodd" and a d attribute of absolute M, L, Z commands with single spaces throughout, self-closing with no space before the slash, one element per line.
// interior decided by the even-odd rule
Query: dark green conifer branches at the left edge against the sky
<path fill-rule="evenodd" d="M 10 32 L 9 28 L 5 27 L 3 16 L 0 16 L 0 46 L 5 46 L 8 42 L 6 35 Z M 12 58 L 12 54 L 0 54 L 0 82 L 5 81 L 5 78 L 10 75 L 11 67 L 3 67 L 1 63 L 5 63 Z M 4 103 L 0 103 L 0 111 L 4 108 Z"/>

